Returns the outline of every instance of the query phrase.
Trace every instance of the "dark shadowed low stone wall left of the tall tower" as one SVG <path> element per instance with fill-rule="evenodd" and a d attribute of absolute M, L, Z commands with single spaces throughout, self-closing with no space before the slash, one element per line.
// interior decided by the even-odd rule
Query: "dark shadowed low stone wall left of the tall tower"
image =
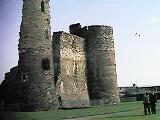
<path fill-rule="evenodd" d="M 10 69 L 5 74 L 5 80 L 0 85 L 0 111 L 20 111 L 21 81 L 19 81 L 19 67 Z M 16 107 L 10 107 L 12 105 Z"/>

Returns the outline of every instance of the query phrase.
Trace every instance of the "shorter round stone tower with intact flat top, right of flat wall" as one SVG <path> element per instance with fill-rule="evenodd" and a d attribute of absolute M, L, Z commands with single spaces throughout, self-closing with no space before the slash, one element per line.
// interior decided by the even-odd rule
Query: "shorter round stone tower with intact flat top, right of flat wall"
<path fill-rule="evenodd" d="M 88 26 L 83 28 L 86 39 L 88 85 L 91 100 L 103 104 L 120 102 L 113 29 L 110 26 Z"/>

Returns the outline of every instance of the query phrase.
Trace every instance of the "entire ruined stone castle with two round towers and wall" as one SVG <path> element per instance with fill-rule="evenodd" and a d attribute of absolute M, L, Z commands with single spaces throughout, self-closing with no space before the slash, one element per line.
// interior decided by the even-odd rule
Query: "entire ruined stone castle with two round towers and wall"
<path fill-rule="evenodd" d="M 113 29 L 69 27 L 51 36 L 49 0 L 24 0 L 18 66 L 0 86 L 4 109 L 53 110 L 119 103 Z M 13 105 L 13 106 L 12 106 Z M 15 105 L 15 106 L 14 106 Z M 7 107 L 9 106 L 9 107 Z"/>

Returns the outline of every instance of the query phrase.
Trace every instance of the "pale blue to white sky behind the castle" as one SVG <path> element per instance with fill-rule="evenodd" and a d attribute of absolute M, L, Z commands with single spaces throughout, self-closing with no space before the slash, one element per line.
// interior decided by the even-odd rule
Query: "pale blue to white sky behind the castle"
<path fill-rule="evenodd" d="M 18 64 L 22 1 L 0 2 L 0 81 Z M 68 32 L 73 23 L 113 27 L 118 86 L 160 86 L 160 0 L 51 0 L 50 5 L 52 32 Z"/>

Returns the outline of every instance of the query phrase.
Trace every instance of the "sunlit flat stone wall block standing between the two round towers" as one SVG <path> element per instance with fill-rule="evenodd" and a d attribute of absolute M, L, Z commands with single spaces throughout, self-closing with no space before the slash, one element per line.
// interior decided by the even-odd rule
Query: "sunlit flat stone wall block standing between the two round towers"
<path fill-rule="evenodd" d="M 55 81 L 62 107 L 89 105 L 84 39 L 64 32 L 53 33 Z"/>

